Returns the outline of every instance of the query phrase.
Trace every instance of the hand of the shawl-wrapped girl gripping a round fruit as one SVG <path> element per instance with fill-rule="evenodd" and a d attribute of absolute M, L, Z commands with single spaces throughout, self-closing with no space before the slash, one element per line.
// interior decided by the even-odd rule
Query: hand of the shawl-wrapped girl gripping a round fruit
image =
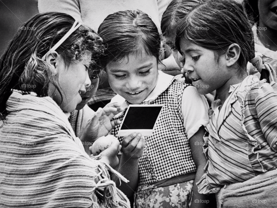
<path fill-rule="evenodd" d="M 100 161 L 108 163 L 112 168 L 116 167 L 119 163 L 117 153 L 120 150 L 120 143 L 117 139 L 114 139 L 112 144 L 106 149 L 103 150 L 99 155 L 101 156 Z M 91 152 L 91 147 L 89 147 L 91 157 L 94 155 Z"/>

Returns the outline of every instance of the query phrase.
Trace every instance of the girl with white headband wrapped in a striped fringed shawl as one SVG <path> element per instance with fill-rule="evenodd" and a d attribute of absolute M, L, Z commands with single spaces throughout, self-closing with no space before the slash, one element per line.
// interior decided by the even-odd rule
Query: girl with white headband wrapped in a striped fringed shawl
<path fill-rule="evenodd" d="M 63 13 L 38 14 L 17 31 L 0 63 L 1 207 L 130 207 L 109 178 L 119 142 L 93 160 L 67 117 L 102 49 Z"/>

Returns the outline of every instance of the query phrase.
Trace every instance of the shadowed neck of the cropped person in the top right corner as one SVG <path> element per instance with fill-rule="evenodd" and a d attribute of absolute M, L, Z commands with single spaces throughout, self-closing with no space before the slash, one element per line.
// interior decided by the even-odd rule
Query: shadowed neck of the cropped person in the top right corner
<path fill-rule="evenodd" d="M 261 21 L 260 21 L 261 22 Z M 266 27 L 263 22 L 260 23 L 259 27 Z M 272 51 L 277 51 L 277 31 L 266 27 L 266 30 L 257 30 L 261 43 Z"/>

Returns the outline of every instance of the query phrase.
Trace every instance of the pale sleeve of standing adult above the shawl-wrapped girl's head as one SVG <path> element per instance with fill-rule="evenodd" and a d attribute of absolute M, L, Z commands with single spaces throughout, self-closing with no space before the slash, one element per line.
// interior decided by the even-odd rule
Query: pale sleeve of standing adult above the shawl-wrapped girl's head
<path fill-rule="evenodd" d="M 66 13 L 82 22 L 79 0 L 38 0 L 38 11 Z"/>

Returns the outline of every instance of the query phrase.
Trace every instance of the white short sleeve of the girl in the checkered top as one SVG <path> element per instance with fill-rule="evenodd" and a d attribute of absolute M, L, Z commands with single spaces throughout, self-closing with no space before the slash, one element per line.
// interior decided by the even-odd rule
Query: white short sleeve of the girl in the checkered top
<path fill-rule="evenodd" d="M 204 95 L 200 95 L 195 87 L 187 86 L 183 93 L 181 110 L 188 139 L 201 126 L 205 127 L 209 123 L 208 109 L 209 105 Z"/>

